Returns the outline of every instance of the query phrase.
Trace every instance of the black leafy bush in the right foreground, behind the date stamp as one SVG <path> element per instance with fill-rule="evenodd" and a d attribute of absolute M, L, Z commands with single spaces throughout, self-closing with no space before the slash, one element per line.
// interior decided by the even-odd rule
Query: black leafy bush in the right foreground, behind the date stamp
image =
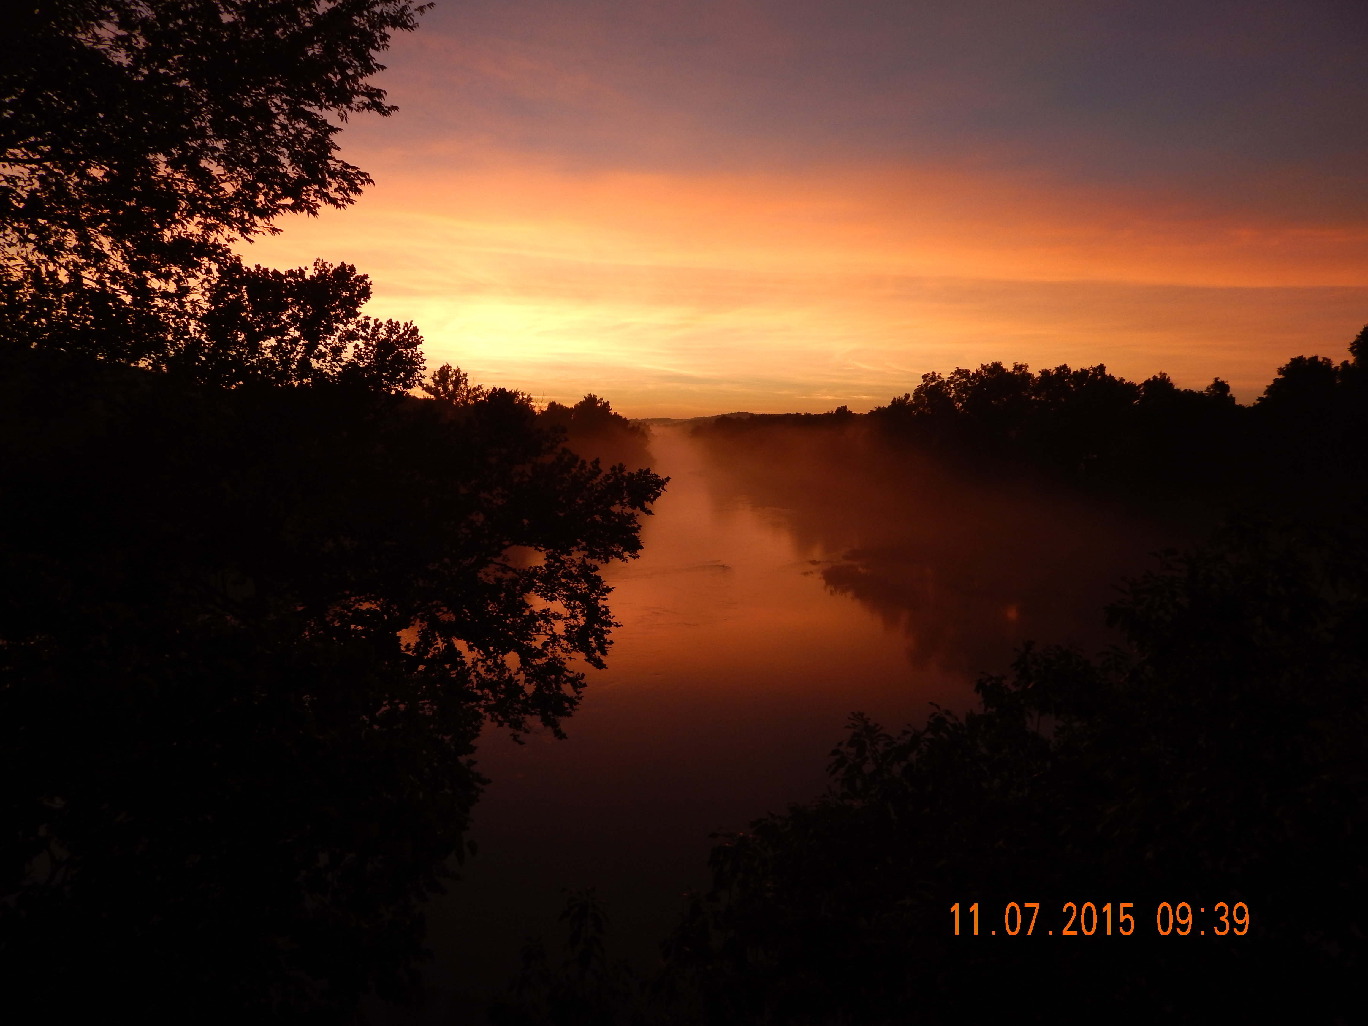
<path fill-rule="evenodd" d="M 1124 651 L 1027 648 L 979 680 L 981 711 L 896 737 L 856 717 L 826 796 L 714 850 L 714 888 L 666 948 L 702 1001 L 679 1021 L 1350 1022 L 1365 599 L 1361 514 L 1237 523 L 1129 586 L 1111 610 Z M 1159 902 L 1222 900 L 1249 904 L 1249 936 L 1153 930 Z M 999 936 L 963 936 L 975 902 Z M 1148 921 L 1007 937 L 1007 902 L 1044 903 L 1056 934 L 1064 902 L 1134 902 Z"/>

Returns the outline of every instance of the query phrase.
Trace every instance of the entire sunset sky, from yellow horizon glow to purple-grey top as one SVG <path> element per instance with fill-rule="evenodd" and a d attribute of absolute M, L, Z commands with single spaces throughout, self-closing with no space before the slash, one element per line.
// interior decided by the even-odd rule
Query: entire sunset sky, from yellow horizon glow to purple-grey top
<path fill-rule="evenodd" d="M 368 272 L 428 363 L 628 416 L 1105 364 L 1250 402 L 1368 321 L 1361 0 L 438 0 L 375 185 L 252 263 Z"/>

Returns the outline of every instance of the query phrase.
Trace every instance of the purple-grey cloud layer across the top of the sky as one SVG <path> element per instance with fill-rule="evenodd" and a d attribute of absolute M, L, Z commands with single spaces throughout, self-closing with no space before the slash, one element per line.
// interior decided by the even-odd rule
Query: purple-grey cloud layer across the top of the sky
<path fill-rule="evenodd" d="M 401 131 L 598 167 L 930 161 L 1212 202 L 1252 182 L 1323 213 L 1368 197 L 1368 8 L 1347 0 L 482 0 L 404 47 Z"/>

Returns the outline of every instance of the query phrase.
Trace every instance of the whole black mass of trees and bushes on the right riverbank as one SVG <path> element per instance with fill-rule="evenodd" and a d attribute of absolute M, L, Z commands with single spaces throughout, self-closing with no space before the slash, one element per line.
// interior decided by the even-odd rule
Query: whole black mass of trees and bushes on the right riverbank
<path fill-rule="evenodd" d="M 1357 1021 L 1365 341 L 1338 365 L 1293 360 L 1253 406 L 1219 386 L 995 364 L 928 375 L 865 417 L 696 430 L 726 447 L 832 431 L 966 473 L 1233 505 L 1207 544 L 1126 583 L 1105 611 L 1118 647 L 1026 646 L 963 717 L 897 733 L 854 717 L 828 793 L 717 839 L 713 886 L 654 971 L 614 963 L 602 907 L 573 896 L 564 956 L 531 945 L 495 1022 Z M 1070 922 L 1086 903 L 1096 918 Z M 1241 936 L 1228 915 L 1245 908 Z"/>

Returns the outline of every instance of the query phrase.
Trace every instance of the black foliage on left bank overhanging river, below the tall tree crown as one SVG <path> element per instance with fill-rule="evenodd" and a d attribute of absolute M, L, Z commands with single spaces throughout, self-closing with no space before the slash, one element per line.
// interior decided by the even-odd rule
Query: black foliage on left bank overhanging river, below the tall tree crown
<path fill-rule="evenodd" d="M 502 390 L 0 357 L 7 1007 L 342 1022 L 402 992 L 476 735 L 573 711 L 598 566 L 662 482 Z"/>

